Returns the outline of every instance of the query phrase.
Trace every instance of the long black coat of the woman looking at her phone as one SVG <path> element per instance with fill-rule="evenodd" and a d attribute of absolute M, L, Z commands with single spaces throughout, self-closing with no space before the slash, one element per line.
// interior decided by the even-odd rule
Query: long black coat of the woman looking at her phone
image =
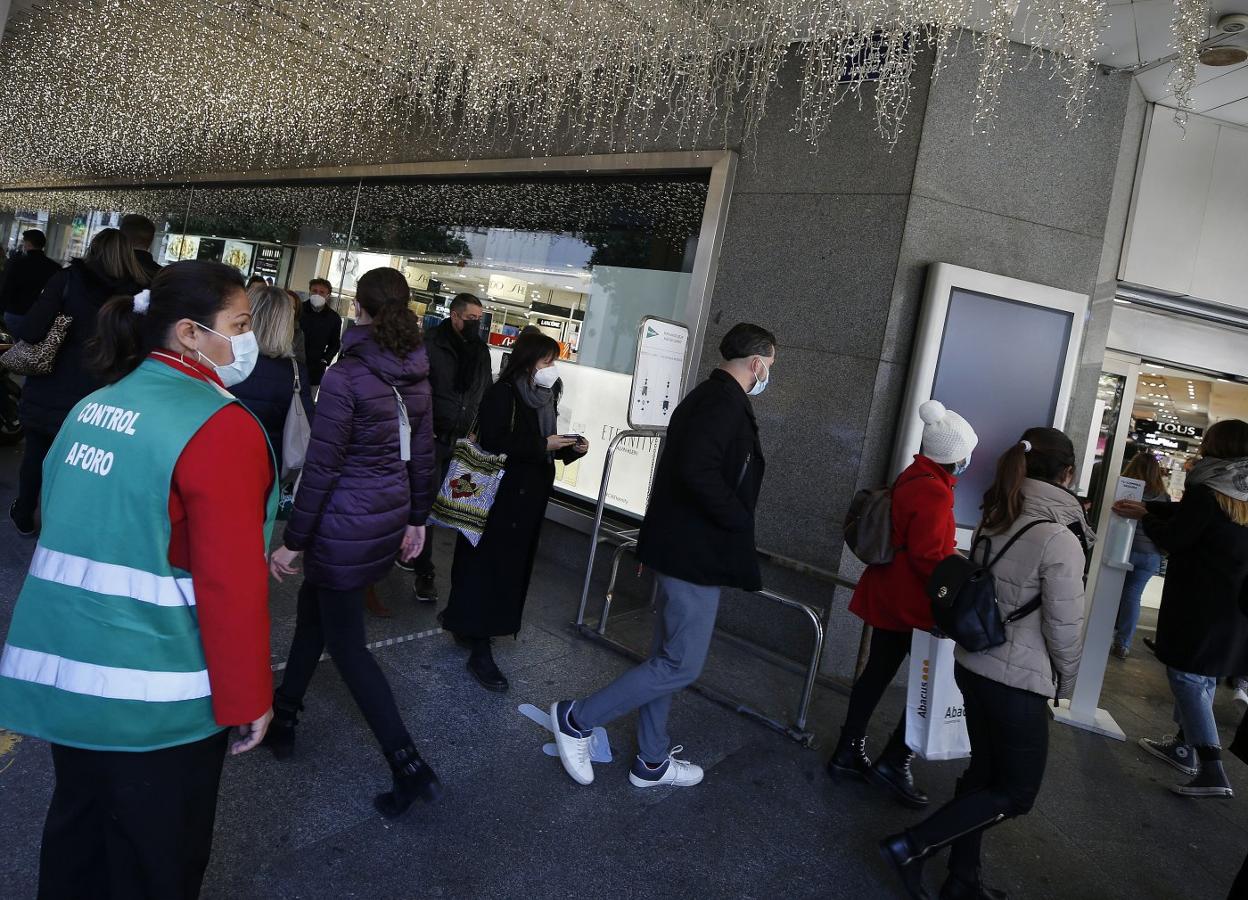
<path fill-rule="evenodd" d="M 480 543 L 473 547 L 461 534 L 451 574 L 451 599 L 442 625 L 472 638 L 492 638 L 520 630 L 524 598 L 554 486 L 554 463 L 538 413 L 520 399 L 510 381 L 485 391 L 480 403 L 478 438 L 483 449 L 507 453 L 507 467 Z M 575 462 L 580 453 L 559 454 Z"/>

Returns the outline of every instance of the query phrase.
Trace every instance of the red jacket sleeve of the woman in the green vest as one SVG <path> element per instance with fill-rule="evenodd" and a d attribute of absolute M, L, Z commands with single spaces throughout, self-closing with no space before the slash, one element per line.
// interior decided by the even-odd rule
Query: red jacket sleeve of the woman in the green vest
<path fill-rule="evenodd" d="M 205 423 L 173 469 L 170 503 L 185 511 L 185 567 L 220 725 L 255 721 L 273 702 L 265 545 L 272 484 L 265 434 L 236 403 Z"/>

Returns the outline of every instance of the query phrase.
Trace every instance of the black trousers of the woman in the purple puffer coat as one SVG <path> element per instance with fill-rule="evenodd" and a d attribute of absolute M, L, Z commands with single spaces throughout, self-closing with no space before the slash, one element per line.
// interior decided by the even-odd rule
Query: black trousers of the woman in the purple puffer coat
<path fill-rule="evenodd" d="M 321 654 L 328 649 L 382 753 L 393 753 L 411 744 L 412 738 L 403 726 L 389 683 L 366 644 L 364 589 L 329 590 L 305 580 L 300 588 L 295 639 L 277 693 L 291 703 L 302 703 Z"/>

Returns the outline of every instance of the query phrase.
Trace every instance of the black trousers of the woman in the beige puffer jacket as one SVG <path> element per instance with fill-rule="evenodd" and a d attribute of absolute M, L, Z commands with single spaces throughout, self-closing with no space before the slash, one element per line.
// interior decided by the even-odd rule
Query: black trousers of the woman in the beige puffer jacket
<path fill-rule="evenodd" d="M 957 781 L 953 799 L 910 830 L 916 850 L 934 851 L 952 843 L 948 870 L 978 883 L 983 831 L 1005 819 L 1026 815 L 1036 803 L 1048 758 L 1047 700 L 953 669 L 966 704 L 971 764 Z"/>

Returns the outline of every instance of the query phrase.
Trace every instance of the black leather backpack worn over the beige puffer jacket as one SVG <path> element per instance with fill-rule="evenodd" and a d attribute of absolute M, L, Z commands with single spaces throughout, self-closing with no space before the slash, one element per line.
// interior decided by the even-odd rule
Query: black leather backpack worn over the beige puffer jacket
<path fill-rule="evenodd" d="M 1010 552 L 1010 548 L 1023 534 L 1036 526 L 1056 524 L 1050 519 L 1036 519 L 1030 522 L 1006 542 L 1001 552 L 992 557 L 992 543 L 986 537 L 981 537 L 971 548 L 970 558 L 955 553 L 946 557 L 932 572 L 927 580 L 927 595 L 932 602 L 932 618 L 945 635 L 952 638 L 958 647 L 971 653 L 980 653 L 1006 643 L 1006 625 L 1023 619 L 1040 609 L 1041 598 L 1018 607 L 1015 612 L 1001 618 L 997 608 L 997 585 L 992 580 L 992 567 L 1001 562 L 1001 557 Z M 981 544 L 987 544 L 983 554 L 985 562 L 976 562 L 976 549 Z"/>

